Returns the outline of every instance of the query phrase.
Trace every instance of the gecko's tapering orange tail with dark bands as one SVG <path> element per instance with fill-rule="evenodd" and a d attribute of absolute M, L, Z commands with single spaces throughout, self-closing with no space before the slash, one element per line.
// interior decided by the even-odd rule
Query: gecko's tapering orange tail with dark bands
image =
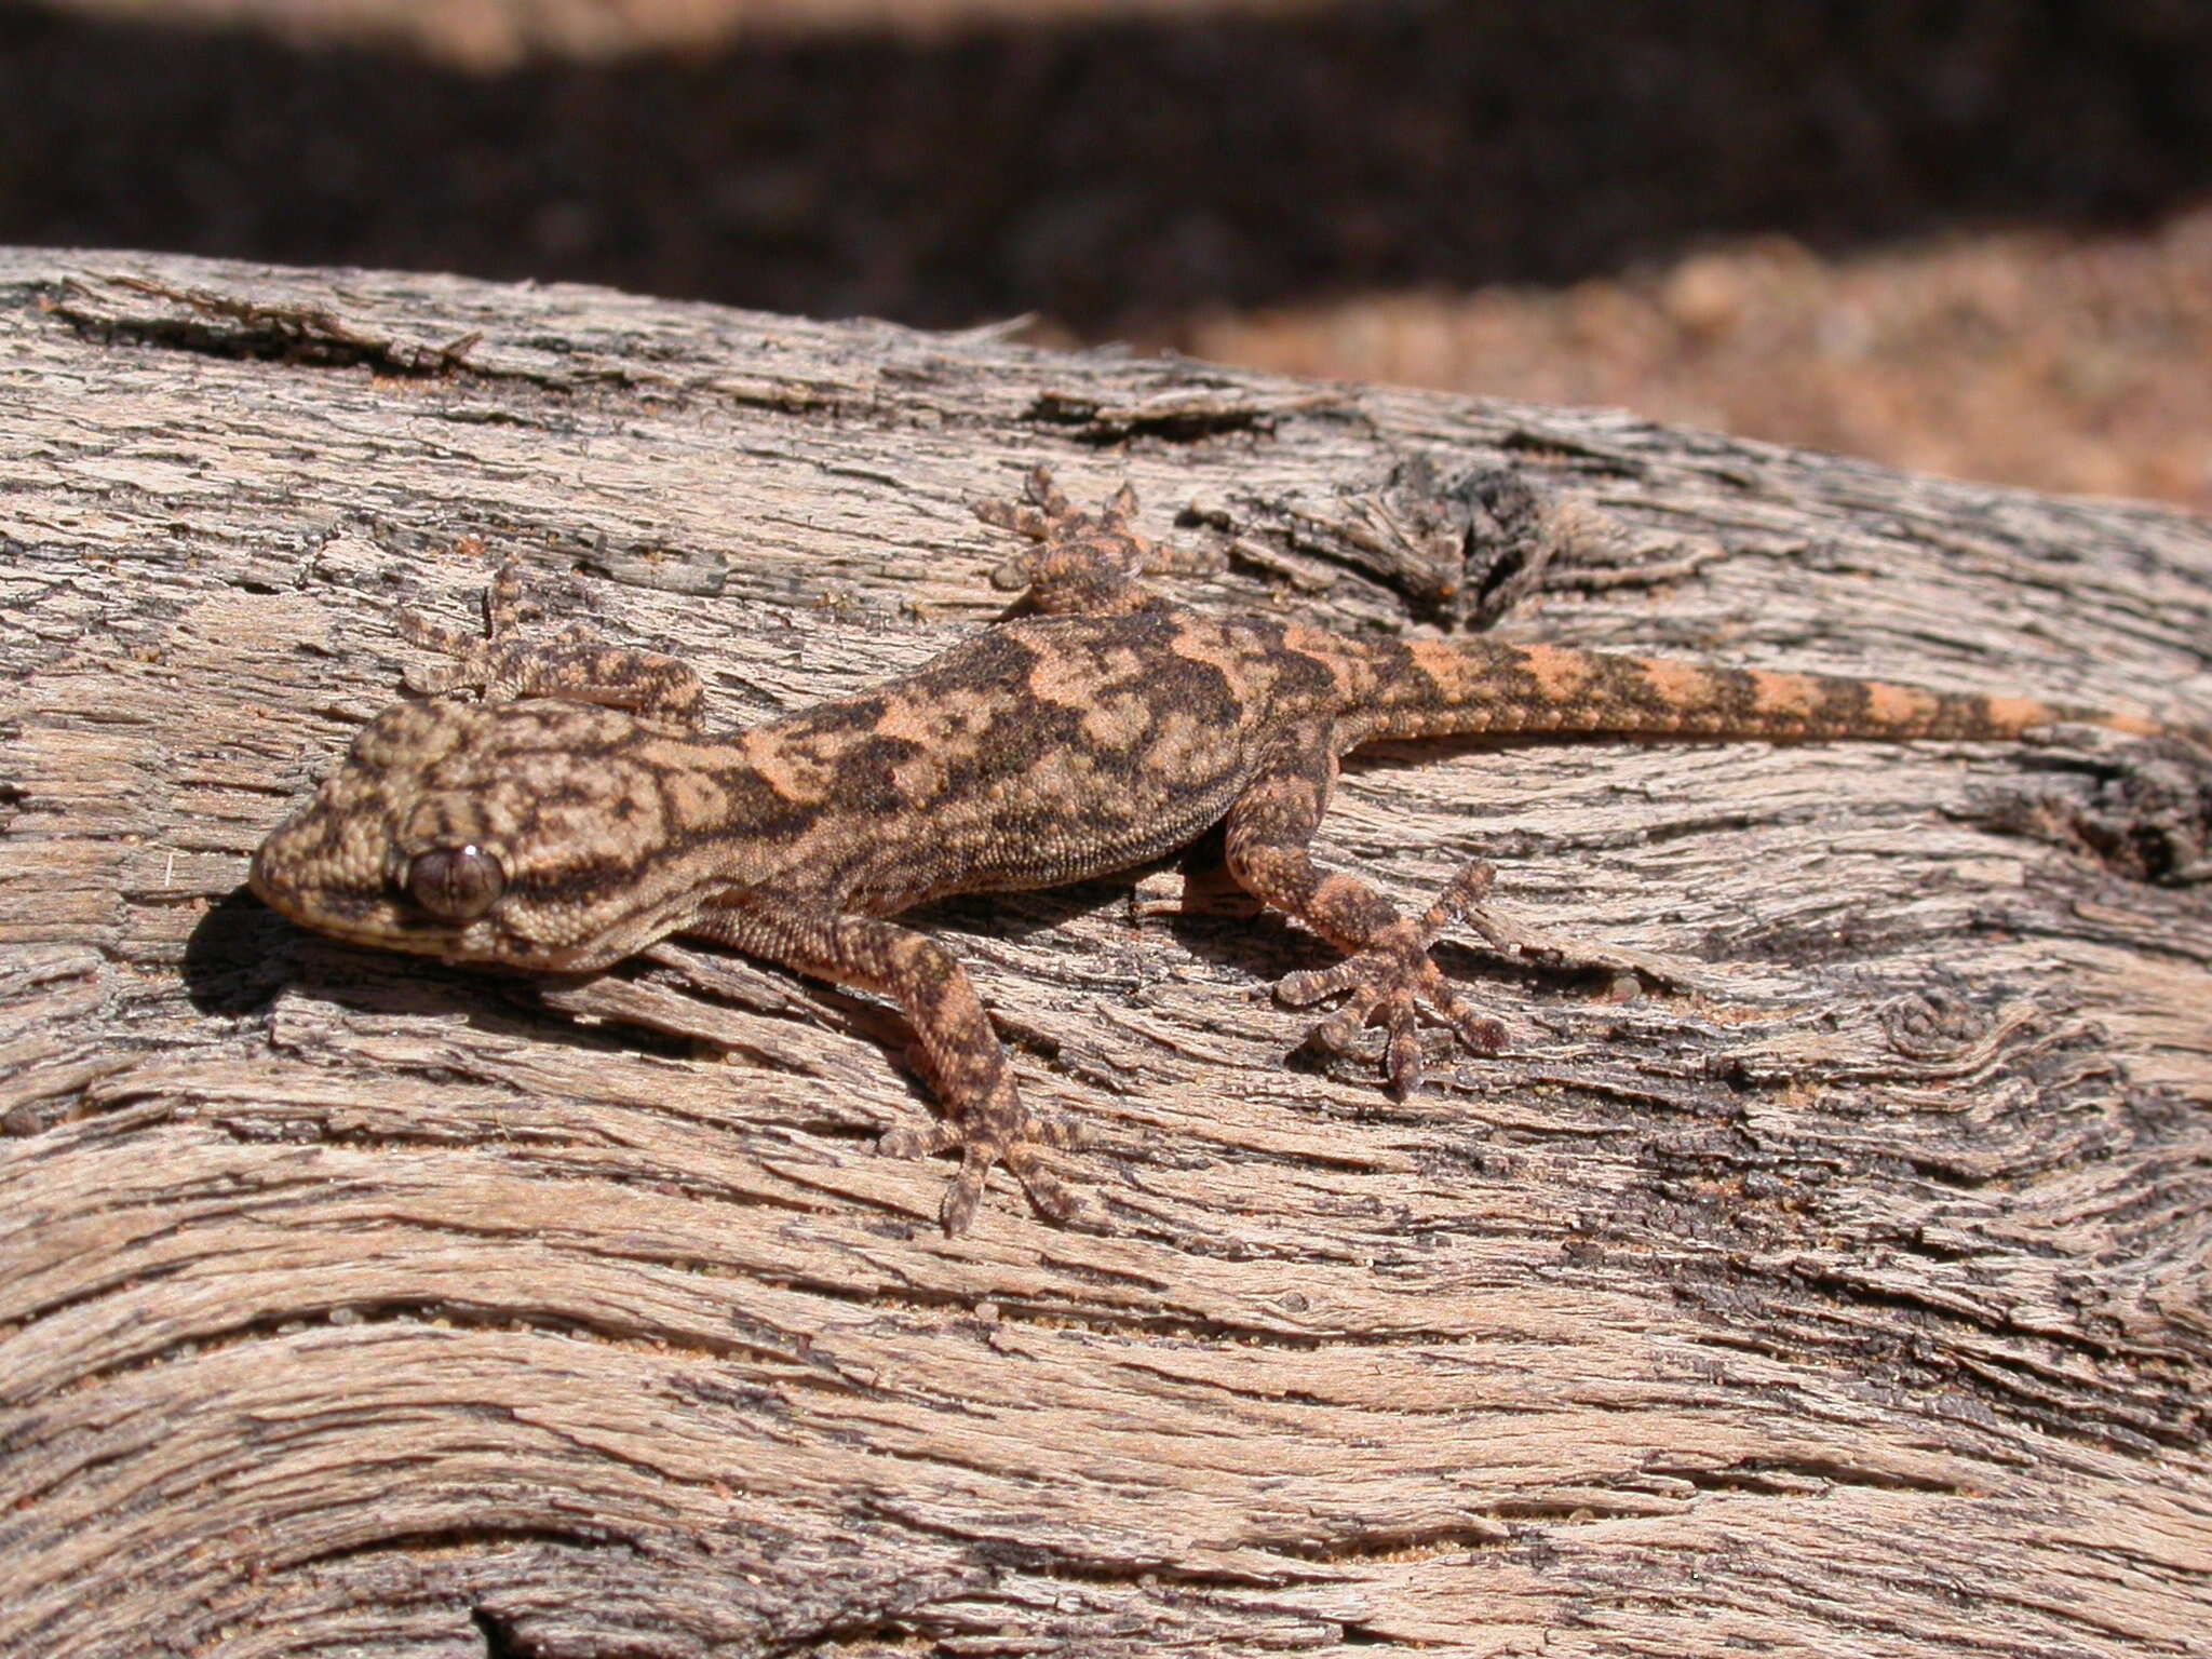
<path fill-rule="evenodd" d="M 1573 646 L 1407 641 L 1380 648 L 1385 657 L 1391 653 L 1402 653 L 1402 661 L 1376 661 L 1376 714 L 1367 737 L 2017 739 L 2064 721 L 2137 737 L 2190 737 L 2124 710 Z"/>

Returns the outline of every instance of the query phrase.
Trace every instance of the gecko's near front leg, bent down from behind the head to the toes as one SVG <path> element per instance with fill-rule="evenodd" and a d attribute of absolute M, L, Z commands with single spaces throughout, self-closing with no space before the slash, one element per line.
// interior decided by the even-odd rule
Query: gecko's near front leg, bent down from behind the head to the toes
<path fill-rule="evenodd" d="M 883 1150 L 894 1157 L 960 1150 L 960 1175 L 940 1210 L 945 1232 L 967 1232 L 993 1164 L 1004 1164 L 1053 1221 L 1082 1212 L 1042 1157 L 1044 1148 L 1066 1146 L 1066 1128 L 1031 1117 L 975 984 L 942 945 L 876 916 L 814 909 L 757 889 L 717 896 L 684 931 L 898 1002 L 927 1082 L 953 1121 L 896 1128 L 883 1137 Z"/>

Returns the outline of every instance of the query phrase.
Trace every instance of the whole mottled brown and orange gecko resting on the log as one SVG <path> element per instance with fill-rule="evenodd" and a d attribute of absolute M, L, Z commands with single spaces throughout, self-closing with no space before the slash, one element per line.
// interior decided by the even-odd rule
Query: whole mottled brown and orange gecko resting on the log
<path fill-rule="evenodd" d="M 1436 737 L 2020 739 L 2062 721 L 2161 721 L 2024 697 L 1723 668 L 1491 639 L 1349 637 L 1172 604 L 1146 575 L 1199 557 L 1135 529 L 1130 484 L 1077 511 L 1040 467 L 978 515 L 1022 538 L 993 626 L 849 697 L 712 732 L 697 672 L 542 617 L 509 560 L 484 630 L 400 613 L 451 659 L 369 721 L 254 852 L 263 905 L 341 940 L 542 973 L 606 969 L 690 936 L 889 998 L 942 1117 L 880 1139 L 958 1152 L 940 1223 L 962 1232 L 993 1168 L 1048 1219 L 1088 1203 L 1051 1168 L 1064 1119 L 1031 1113 L 960 962 L 894 918 L 951 894 L 1057 887 L 1223 830 L 1232 878 L 1340 960 L 1276 984 L 1336 1006 L 1323 1051 L 1383 1029 L 1389 1086 L 1420 1084 L 1422 1015 L 1478 1053 L 1500 1022 L 1429 956 L 1484 927 L 1491 867 L 1420 914 L 1312 856 L 1338 759 Z M 1495 933 L 1493 933 L 1495 938 Z"/>

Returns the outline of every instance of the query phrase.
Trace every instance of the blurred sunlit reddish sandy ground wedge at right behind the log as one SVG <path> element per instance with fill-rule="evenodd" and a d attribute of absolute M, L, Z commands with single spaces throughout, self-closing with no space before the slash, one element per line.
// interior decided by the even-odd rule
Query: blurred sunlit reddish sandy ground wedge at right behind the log
<path fill-rule="evenodd" d="M 1179 343 L 2212 511 L 2212 208 L 2146 234 L 2000 232 L 1832 263 L 1743 241 L 1562 290 L 1201 316 Z"/>

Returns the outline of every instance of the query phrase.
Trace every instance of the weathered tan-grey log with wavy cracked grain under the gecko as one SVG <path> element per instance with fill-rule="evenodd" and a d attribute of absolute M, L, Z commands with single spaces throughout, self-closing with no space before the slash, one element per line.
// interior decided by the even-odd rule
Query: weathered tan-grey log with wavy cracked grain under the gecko
<path fill-rule="evenodd" d="M 0 1652 L 2212 1652 L 2212 896 L 2130 867 L 2192 834 L 2139 745 L 1363 763 L 1323 856 L 1495 858 L 1666 982 L 1447 951 L 1513 1046 L 1407 1102 L 1283 1064 L 1325 953 L 1203 856 L 947 905 L 1104 1237 L 931 1230 L 885 1006 L 241 891 L 462 535 L 734 723 L 989 617 L 969 504 L 1040 460 L 1234 542 L 1192 602 L 1338 628 L 1455 546 L 1394 469 L 1513 462 L 1705 553 L 1511 637 L 2201 723 L 2203 522 L 595 290 L 13 252 L 0 301 Z"/>

